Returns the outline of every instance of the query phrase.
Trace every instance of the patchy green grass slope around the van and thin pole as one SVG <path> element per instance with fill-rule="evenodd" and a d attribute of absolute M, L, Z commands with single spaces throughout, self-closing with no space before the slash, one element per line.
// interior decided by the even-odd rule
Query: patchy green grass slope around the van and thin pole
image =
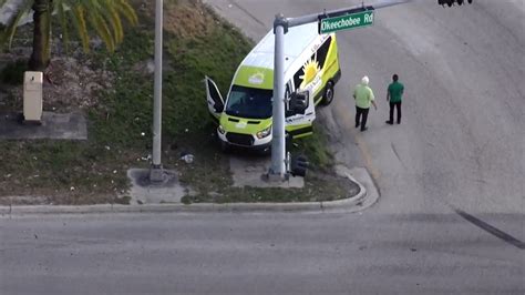
<path fill-rule="evenodd" d="M 163 164 L 176 169 L 179 180 L 196 191 L 184 202 L 330 200 L 356 189 L 329 172 L 332 159 L 319 128 L 297 142 L 296 150 L 315 166 L 303 190 L 230 187 L 228 161 L 218 152 L 202 80 L 212 77 L 226 93 L 254 44 L 199 2 L 168 1 L 166 10 Z M 100 91 L 87 113 L 87 141 L 0 141 L 0 203 L 12 202 L 6 197 L 12 195 L 44 196 L 44 203 L 54 204 L 128 201 L 126 170 L 147 167 L 152 148 L 153 74 L 144 70 L 153 59 L 151 10 L 141 11 L 141 26 L 128 28 L 116 53 L 99 50 L 87 57 L 91 67 L 115 74 L 114 87 Z M 193 153 L 196 161 L 183 163 L 182 152 Z"/>

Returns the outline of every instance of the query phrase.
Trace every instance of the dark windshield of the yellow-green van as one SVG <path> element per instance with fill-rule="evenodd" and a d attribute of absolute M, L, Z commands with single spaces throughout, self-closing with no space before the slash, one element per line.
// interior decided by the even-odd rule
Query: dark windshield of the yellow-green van
<path fill-rule="evenodd" d="M 234 85 L 229 92 L 226 113 L 247 119 L 271 116 L 272 90 Z"/>

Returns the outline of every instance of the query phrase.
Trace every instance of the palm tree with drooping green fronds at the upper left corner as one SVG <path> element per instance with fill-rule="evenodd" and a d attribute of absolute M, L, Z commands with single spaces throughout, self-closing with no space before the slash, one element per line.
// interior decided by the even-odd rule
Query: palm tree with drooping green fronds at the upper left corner
<path fill-rule="evenodd" d="M 0 0 L 0 7 L 7 1 Z M 18 24 L 32 11 L 33 51 L 29 68 L 34 71 L 42 71 L 49 64 L 53 19 L 62 28 L 65 47 L 73 27 L 85 52 L 90 50 L 89 31 L 95 31 L 104 41 L 106 49 L 112 52 L 124 38 L 122 17 L 131 24 L 136 24 L 138 21 L 128 0 L 17 0 L 16 7 L 17 12 L 9 20 L 1 41 L 11 47 Z"/>

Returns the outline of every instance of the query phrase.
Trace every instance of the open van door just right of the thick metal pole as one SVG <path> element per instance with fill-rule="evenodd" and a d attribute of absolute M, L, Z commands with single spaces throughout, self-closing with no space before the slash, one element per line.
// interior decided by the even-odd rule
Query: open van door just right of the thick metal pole
<path fill-rule="evenodd" d="M 289 95 L 290 98 L 287 98 L 286 131 L 291 139 L 311 135 L 313 132 L 312 122 L 316 120 L 313 95 L 309 91 L 290 93 Z"/>

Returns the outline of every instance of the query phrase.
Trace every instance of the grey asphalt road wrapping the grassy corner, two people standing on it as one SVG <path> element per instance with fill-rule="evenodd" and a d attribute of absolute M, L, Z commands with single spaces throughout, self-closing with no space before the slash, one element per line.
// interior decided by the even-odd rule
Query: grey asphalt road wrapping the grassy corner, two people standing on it
<path fill-rule="evenodd" d="M 254 39 L 277 12 L 358 1 L 207 0 Z M 361 214 L 0 220 L 0 294 L 524 294 L 525 8 L 419 1 L 338 33 L 342 80 L 321 121 L 381 199 Z M 385 125 L 392 73 L 406 87 Z M 350 88 L 380 104 L 353 129 Z"/>

